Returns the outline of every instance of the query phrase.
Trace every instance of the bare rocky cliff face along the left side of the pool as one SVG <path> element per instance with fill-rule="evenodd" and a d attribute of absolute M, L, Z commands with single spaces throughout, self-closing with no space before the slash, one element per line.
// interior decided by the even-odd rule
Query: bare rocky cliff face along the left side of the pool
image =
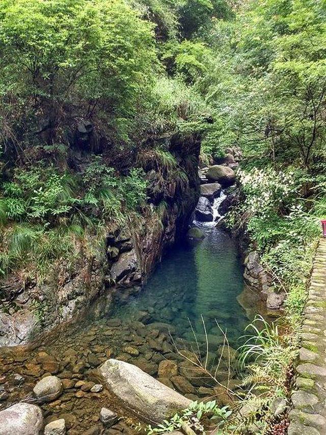
<path fill-rule="evenodd" d="M 106 295 L 110 309 L 113 295 L 123 299 L 140 290 L 166 250 L 187 230 L 199 197 L 199 143 L 188 144 L 186 151 L 178 142 L 169 146 L 188 181 L 182 189 L 173 189 L 163 209 L 154 206 L 149 191 L 149 207 L 141 219 L 127 220 L 129 224 L 112 230 L 108 225 L 97 255 L 81 255 L 72 266 L 66 262 L 53 265 L 42 284 L 23 280 L 18 274 L 1 283 L 0 346 L 32 341 L 73 319 L 100 295 Z"/>

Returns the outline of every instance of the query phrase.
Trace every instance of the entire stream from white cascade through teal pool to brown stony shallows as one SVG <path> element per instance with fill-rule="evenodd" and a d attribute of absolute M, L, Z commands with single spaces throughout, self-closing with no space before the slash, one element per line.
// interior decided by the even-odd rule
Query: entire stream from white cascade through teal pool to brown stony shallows
<path fill-rule="evenodd" d="M 219 217 L 218 201 L 221 198 L 215 200 L 214 218 Z M 124 304 L 117 303 L 114 311 L 99 311 L 96 304 L 83 319 L 33 346 L 0 349 L 0 409 L 19 400 L 33 402 L 36 382 L 51 373 L 63 380 L 64 392 L 58 400 L 41 405 L 46 423 L 64 418 L 69 435 L 101 427 L 102 406 L 122 416 L 125 411 L 107 390 L 93 393 L 80 387 L 83 382 L 98 383 L 96 367 L 108 358 L 135 364 L 193 400 L 217 394 L 209 379 L 191 375 L 191 363 L 179 352 L 191 358 L 193 349 L 199 349 L 204 358 L 208 345 L 207 360 L 213 369 L 224 353 L 221 331 L 232 348 L 238 347 L 248 323 L 237 302 L 243 266 L 236 243 L 226 232 L 212 223 L 194 225 L 201 228 L 204 239 L 171 249 L 142 291 Z M 178 376 L 160 372 L 159 363 L 167 359 L 178 364 Z M 218 373 L 221 382 L 237 376 L 225 358 Z M 129 416 L 124 417 L 104 433 L 128 432 Z"/>

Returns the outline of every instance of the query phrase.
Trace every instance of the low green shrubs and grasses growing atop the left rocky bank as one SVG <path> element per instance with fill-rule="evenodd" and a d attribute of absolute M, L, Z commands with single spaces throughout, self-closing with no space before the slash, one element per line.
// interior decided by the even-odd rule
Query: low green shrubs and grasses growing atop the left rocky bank
<path fill-rule="evenodd" d="M 59 258 L 73 261 L 76 243 L 86 232 L 100 237 L 100 222 L 123 222 L 127 213 L 139 212 L 146 188 L 141 169 L 119 177 L 101 156 L 80 177 L 44 162 L 16 168 L 0 191 L 1 273 L 31 263 L 42 276 Z"/>

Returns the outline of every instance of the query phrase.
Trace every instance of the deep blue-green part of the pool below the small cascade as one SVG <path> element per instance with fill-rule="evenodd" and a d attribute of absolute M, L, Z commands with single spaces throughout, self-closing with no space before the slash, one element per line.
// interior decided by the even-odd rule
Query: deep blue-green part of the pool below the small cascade
<path fill-rule="evenodd" d="M 115 317 L 129 320 L 148 311 L 151 322 L 172 324 L 175 334 L 187 340 L 194 339 L 191 322 L 198 340 L 204 342 L 203 317 L 209 341 L 223 339 L 218 322 L 237 347 L 248 318 L 237 302 L 243 267 L 235 241 L 211 224 L 195 225 L 204 232 L 204 240 L 171 250 L 142 292 L 117 309 Z"/>

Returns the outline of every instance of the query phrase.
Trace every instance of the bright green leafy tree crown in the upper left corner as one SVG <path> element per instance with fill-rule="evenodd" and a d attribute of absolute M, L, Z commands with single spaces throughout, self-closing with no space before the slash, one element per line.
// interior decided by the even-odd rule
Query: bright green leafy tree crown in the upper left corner
<path fill-rule="evenodd" d="M 52 126 L 84 104 L 124 137 L 154 80 L 152 25 L 121 0 L 5 0 L 0 52 L 0 97 L 42 107 Z"/>

